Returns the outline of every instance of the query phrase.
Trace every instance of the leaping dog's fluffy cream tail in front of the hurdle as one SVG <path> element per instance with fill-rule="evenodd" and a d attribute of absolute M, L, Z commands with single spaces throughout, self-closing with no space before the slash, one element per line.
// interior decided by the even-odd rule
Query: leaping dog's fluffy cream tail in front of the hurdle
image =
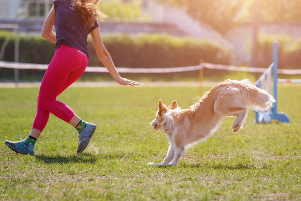
<path fill-rule="evenodd" d="M 242 89 L 244 103 L 255 111 L 268 110 L 276 100 L 266 90 L 252 85 L 249 80 L 242 80 L 246 89 Z"/>

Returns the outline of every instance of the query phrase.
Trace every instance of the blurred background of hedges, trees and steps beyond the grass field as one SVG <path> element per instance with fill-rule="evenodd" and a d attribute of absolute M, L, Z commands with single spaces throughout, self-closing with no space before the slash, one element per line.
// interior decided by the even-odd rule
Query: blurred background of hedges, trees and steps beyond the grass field
<path fill-rule="evenodd" d="M 40 37 L 51 0 L 0 0 L 0 60 L 49 64 L 54 45 Z M 272 42 L 279 43 L 279 68 L 301 69 L 301 0 L 101 0 L 108 18 L 100 22 L 104 44 L 117 67 L 170 68 L 204 62 L 267 68 Z M 8 25 L 18 25 L 13 29 Z M 55 31 L 55 30 L 54 30 Z M 5 42 L 7 41 L 7 42 Z M 91 38 L 88 66 L 103 66 Z M 20 81 L 40 81 L 45 71 L 21 70 Z M 130 74 L 127 78 L 198 80 L 198 72 Z M 256 73 L 204 70 L 205 80 L 249 78 Z M 300 78 L 300 75 L 280 75 Z M 0 70 L 0 81 L 14 70 Z M 80 80 L 110 80 L 108 73 L 84 73 Z"/>

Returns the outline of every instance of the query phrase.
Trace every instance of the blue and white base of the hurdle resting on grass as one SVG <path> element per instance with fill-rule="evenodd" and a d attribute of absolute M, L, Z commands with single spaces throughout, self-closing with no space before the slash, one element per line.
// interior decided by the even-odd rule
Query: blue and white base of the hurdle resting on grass
<path fill-rule="evenodd" d="M 254 123 L 260 123 L 260 122 L 271 123 L 272 119 L 275 119 L 280 122 L 289 122 L 288 115 L 281 111 L 277 112 L 276 114 L 268 111 L 264 111 L 264 112 L 255 111 Z"/>

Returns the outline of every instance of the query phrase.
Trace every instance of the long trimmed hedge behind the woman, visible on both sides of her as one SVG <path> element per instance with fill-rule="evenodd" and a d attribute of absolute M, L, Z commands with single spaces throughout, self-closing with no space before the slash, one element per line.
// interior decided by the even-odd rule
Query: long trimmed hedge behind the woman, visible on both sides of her
<path fill-rule="evenodd" d="M 7 37 L 0 33 L 0 44 Z M 205 62 L 230 64 L 231 53 L 210 40 L 167 35 L 104 36 L 103 42 L 117 67 L 170 68 Z M 54 44 L 40 36 L 20 36 L 20 62 L 48 64 L 54 55 Z M 102 66 L 91 38 L 88 39 L 89 66 Z M 4 61 L 14 61 L 14 37 L 6 47 Z"/>

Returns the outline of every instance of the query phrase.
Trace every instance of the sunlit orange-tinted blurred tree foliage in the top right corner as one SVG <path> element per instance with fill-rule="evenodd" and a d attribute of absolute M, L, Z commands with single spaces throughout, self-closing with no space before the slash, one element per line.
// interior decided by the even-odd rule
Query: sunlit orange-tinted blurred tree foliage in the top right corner
<path fill-rule="evenodd" d="M 251 22 L 254 0 L 159 0 L 182 6 L 196 20 L 221 34 L 235 25 Z M 261 22 L 301 22 L 301 0 L 258 0 Z"/>

